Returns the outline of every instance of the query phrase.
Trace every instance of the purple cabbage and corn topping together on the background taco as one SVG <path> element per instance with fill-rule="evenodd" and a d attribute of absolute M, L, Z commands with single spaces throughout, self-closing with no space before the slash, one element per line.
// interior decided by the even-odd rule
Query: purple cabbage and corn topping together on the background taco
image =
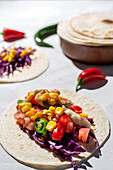
<path fill-rule="evenodd" d="M 15 70 L 19 70 L 20 67 L 30 66 L 31 58 L 35 49 L 23 48 L 23 47 L 13 47 L 4 49 L 0 53 L 0 77 L 9 75 Z"/>

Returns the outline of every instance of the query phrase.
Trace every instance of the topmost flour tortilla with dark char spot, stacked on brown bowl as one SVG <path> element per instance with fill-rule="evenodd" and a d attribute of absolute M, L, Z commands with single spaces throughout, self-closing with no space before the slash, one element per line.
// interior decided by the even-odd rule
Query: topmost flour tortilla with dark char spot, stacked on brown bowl
<path fill-rule="evenodd" d="M 113 38 L 113 13 L 83 14 L 70 22 L 73 30 L 82 35 L 96 39 Z"/>

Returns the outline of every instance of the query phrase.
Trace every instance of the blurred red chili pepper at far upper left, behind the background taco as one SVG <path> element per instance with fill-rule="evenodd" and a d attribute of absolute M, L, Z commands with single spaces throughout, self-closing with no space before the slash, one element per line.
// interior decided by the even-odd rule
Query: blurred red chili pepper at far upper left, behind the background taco
<path fill-rule="evenodd" d="M 1 33 L 5 41 L 15 41 L 25 37 L 25 33 L 5 28 Z"/>

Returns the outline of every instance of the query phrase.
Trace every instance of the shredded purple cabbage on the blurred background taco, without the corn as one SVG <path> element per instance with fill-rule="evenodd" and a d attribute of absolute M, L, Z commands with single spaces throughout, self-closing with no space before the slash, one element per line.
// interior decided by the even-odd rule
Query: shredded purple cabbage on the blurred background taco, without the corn
<path fill-rule="evenodd" d="M 25 50 L 25 48 L 19 47 L 15 49 L 17 51 L 16 56 L 13 58 L 13 60 L 9 62 L 4 62 L 3 58 L 0 57 L 0 77 L 3 77 L 6 73 L 7 76 L 9 76 L 10 73 L 13 73 L 15 70 L 20 71 L 20 67 L 24 66 L 30 66 L 31 65 L 31 59 L 30 59 L 30 52 L 28 52 L 25 56 L 19 57 L 22 50 Z M 35 49 L 33 49 L 33 52 Z M 6 55 L 9 55 L 9 52 L 4 49 L 0 54 L 3 52 L 6 52 Z"/>

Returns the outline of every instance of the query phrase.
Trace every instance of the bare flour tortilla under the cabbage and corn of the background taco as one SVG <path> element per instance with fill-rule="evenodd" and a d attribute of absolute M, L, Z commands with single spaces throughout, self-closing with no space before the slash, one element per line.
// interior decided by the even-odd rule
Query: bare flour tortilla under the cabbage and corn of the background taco
<path fill-rule="evenodd" d="M 15 70 L 9 77 L 4 76 L 0 78 L 0 83 L 13 83 L 33 79 L 46 71 L 48 66 L 49 60 L 47 55 L 38 49 L 33 54 L 31 66 L 24 66 L 23 68 L 19 68 L 21 72 Z"/>

